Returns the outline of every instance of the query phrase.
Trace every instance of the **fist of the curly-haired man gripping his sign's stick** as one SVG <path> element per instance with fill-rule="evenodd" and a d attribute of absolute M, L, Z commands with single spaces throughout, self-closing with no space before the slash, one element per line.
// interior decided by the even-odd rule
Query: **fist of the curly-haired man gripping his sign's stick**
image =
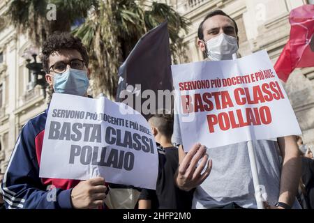
<path fill-rule="evenodd" d="M 106 198 L 105 179 L 92 178 L 77 184 L 71 192 L 73 208 L 96 208 L 102 206 Z"/>

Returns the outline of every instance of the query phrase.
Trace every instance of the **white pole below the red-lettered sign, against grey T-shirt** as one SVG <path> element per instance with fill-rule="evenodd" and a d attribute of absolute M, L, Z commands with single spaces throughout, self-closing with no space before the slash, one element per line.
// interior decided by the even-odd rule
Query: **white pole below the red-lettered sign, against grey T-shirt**
<path fill-rule="evenodd" d="M 255 199 L 257 203 L 257 209 L 264 209 L 262 202 L 262 192 L 260 191 L 260 180 L 258 179 L 256 155 L 253 148 L 252 141 L 248 141 L 248 156 L 250 157 L 251 171 L 253 176 L 253 184 L 255 191 Z"/>

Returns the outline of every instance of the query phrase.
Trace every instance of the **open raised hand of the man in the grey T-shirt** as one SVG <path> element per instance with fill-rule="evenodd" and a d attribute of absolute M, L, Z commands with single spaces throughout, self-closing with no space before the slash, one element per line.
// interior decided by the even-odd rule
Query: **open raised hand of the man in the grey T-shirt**
<path fill-rule="evenodd" d="M 196 144 L 188 151 L 188 154 L 184 157 L 179 169 L 177 171 L 177 178 L 175 178 L 178 187 L 181 190 L 189 191 L 194 187 L 197 187 L 209 176 L 211 172 L 212 161 L 208 161 L 207 169 L 202 171 L 206 167 L 207 160 L 209 159 L 205 146 Z M 197 166 L 199 160 L 202 160 Z"/>

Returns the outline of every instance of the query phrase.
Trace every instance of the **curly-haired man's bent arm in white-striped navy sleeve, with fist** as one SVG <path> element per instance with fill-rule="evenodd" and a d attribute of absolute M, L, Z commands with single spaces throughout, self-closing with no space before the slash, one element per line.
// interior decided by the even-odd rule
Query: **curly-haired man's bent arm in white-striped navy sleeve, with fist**
<path fill-rule="evenodd" d="M 101 185 L 103 178 L 82 181 L 69 190 L 47 191 L 39 178 L 34 137 L 29 122 L 17 139 L 1 184 L 6 208 L 93 208 L 103 203 L 107 190 Z"/>

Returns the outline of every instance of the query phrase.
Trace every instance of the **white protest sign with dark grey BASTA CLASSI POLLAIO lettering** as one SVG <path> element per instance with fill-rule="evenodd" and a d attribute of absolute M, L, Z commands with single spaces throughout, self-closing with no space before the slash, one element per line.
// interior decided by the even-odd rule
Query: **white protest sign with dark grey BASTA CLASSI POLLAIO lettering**
<path fill-rule="evenodd" d="M 54 93 L 40 177 L 86 180 L 103 176 L 108 183 L 156 189 L 157 175 L 156 142 L 140 113 L 105 97 Z"/>

